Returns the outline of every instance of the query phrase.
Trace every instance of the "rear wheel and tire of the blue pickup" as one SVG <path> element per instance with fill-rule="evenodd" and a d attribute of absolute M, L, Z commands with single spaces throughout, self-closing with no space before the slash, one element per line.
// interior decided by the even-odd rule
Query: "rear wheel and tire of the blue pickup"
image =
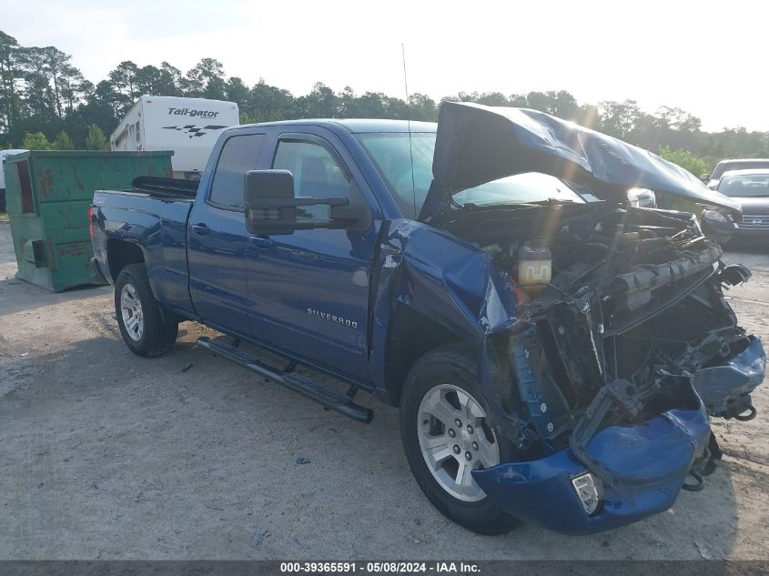
<path fill-rule="evenodd" d="M 163 321 L 144 264 L 129 264 L 120 270 L 115 282 L 115 313 L 123 341 L 138 356 L 162 356 L 177 340 L 179 325 Z"/>

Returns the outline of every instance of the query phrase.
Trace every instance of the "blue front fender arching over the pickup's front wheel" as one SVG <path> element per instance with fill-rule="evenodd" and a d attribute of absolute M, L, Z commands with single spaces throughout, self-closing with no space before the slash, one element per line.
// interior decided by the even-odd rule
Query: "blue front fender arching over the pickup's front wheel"
<path fill-rule="evenodd" d="M 507 349 L 504 354 L 495 353 L 498 345 L 507 346 L 509 327 L 516 319 L 506 275 L 481 249 L 446 230 L 405 219 L 390 223 L 379 248 L 378 268 L 379 282 L 372 288 L 376 296 L 369 378 L 379 399 L 391 403 L 400 396 L 402 380 L 388 378 L 386 359 L 395 339 L 414 338 L 390 329 L 396 308 L 406 307 L 430 318 L 454 341 L 464 342 L 475 352 L 491 425 L 511 440 L 517 439 L 517 417 L 503 403 L 511 372 L 498 366 L 499 361 L 509 365 Z M 419 349 L 421 343 L 414 341 L 413 346 Z M 397 388 L 395 394 L 393 387 Z"/>

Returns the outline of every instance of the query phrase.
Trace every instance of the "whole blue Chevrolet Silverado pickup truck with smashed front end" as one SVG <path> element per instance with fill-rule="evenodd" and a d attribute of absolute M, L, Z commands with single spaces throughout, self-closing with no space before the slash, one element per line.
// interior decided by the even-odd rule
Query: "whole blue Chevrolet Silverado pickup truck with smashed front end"
<path fill-rule="evenodd" d="M 414 477 L 451 520 L 585 533 L 703 489 L 709 419 L 754 418 L 764 379 L 723 298 L 749 270 L 693 215 L 633 207 L 637 188 L 739 217 L 645 150 L 459 103 L 437 125 L 229 128 L 199 186 L 137 178 L 90 217 L 138 355 L 202 322 L 223 336 L 201 346 L 352 419 L 372 418 L 359 390 L 399 406 Z"/>

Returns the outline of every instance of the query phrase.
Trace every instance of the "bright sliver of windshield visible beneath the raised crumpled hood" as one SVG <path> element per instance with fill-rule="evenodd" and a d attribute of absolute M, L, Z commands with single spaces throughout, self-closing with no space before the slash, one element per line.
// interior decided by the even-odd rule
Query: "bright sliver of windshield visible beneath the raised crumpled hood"
<path fill-rule="evenodd" d="M 531 204 L 546 202 L 577 202 L 585 200 L 561 179 L 541 174 L 526 172 L 514 176 L 492 180 L 481 186 L 468 188 L 453 197 L 459 206 L 473 204 L 489 206 L 491 204 Z"/>

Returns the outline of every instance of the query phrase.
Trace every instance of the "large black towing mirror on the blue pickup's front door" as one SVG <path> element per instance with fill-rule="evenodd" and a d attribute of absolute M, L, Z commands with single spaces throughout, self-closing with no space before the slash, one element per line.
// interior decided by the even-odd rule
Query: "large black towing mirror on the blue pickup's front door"
<path fill-rule="evenodd" d="M 297 208 L 328 206 L 327 220 L 297 220 Z M 313 228 L 347 228 L 363 232 L 371 224 L 368 205 L 350 205 L 345 197 L 294 197 L 294 176 L 288 170 L 250 170 L 243 191 L 249 234 L 280 235 Z"/>

